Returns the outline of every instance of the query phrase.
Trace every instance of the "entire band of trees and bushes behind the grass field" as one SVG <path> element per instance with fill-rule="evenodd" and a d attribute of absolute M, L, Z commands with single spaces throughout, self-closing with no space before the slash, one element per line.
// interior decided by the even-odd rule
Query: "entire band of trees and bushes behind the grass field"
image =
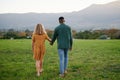
<path fill-rule="evenodd" d="M 52 37 L 53 31 L 46 30 L 49 37 Z M 18 31 L 14 29 L 0 30 L 0 39 L 31 39 L 33 31 L 29 29 Z M 104 30 L 72 30 L 74 39 L 120 39 L 120 29 Z"/>

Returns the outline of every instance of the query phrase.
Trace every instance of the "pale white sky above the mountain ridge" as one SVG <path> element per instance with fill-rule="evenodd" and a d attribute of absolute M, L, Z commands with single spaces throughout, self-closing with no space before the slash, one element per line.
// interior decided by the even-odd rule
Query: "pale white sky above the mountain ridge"
<path fill-rule="evenodd" d="M 116 0 L 0 0 L 0 13 L 62 13 Z"/>

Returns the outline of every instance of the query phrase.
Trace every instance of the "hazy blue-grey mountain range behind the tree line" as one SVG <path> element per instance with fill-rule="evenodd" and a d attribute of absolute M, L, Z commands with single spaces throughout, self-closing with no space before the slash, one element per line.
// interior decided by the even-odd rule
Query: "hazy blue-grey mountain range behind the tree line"
<path fill-rule="evenodd" d="M 66 24 L 74 30 L 120 29 L 120 1 L 108 4 L 93 4 L 81 11 L 70 13 L 6 13 L 0 14 L 0 29 L 31 29 L 37 23 L 53 30 L 59 23 L 58 17 L 64 16 Z"/>

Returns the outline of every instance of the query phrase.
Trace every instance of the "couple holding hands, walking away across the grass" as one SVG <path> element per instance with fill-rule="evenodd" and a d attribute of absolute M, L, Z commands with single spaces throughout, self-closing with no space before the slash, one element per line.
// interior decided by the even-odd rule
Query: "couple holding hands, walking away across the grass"
<path fill-rule="evenodd" d="M 60 77 L 64 77 L 64 74 L 67 73 L 68 50 L 72 50 L 73 40 L 71 28 L 64 22 L 64 17 L 59 17 L 60 25 L 55 28 L 52 40 L 48 37 L 44 27 L 41 24 L 37 24 L 32 36 L 32 50 L 34 53 L 33 58 L 36 60 L 37 76 L 40 76 L 40 73 L 43 71 L 45 40 L 48 40 L 50 45 L 53 45 L 57 39 L 60 59 Z"/>

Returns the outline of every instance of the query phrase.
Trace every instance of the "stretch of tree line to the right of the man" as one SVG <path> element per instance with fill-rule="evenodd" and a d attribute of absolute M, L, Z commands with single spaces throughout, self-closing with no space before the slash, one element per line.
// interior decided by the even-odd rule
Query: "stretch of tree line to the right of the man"
<path fill-rule="evenodd" d="M 85 30 L 75 34 L 77 39 L 120 39 L 119 29 Z"/>

